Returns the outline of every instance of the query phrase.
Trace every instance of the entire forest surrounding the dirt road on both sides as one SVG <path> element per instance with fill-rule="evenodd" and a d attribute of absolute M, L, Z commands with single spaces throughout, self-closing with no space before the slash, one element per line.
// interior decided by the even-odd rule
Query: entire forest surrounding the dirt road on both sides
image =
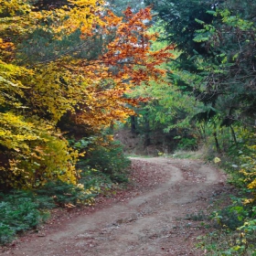
<path fill-rule="evenodd" d="M 9 0 L 0 24 L 1 219 L 19 207 L 15 225 L 0 222 L 1 243 L 47 208 L 91 205 L 127 182 L 130 161 L 113 138 L 129 130 L 139 141 L 129 153 L 201 150 L 227 170 L 241 196 L 229 207 L 237 222 L 222 224 L 244 236 L 229 252 L 247 255 L 256 239 L 256 2 Z"/>

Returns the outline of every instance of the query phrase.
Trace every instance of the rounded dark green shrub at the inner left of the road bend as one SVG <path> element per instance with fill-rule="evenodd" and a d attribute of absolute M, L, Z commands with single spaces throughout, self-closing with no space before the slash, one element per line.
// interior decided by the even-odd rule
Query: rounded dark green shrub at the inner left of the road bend
<path fill-rule="evenodd" d="M 128 181 L 128 166 L 131 161 L 123 154 L 122 144 L 112 140 L 112 135 L 101 134 L 100 137 L 81 138 L 75 143 L 70 142 L 80 153 L 86 151 L 86 155 L 80 158 L 77 165 L 82 170 L 84 183 L 85 176 L 92 180 L 93 176 L 96 179 L 101 177 L 107 182 L 109 178 L 112 182 Z"/>

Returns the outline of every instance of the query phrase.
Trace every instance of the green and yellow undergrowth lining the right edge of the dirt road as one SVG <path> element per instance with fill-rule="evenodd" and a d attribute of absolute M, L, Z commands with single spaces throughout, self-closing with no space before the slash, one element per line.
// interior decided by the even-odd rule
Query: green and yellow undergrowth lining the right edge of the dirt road
<path fill-rule="evenodd" d="M 213 231 L 198 238 L 197 247 L 206 255 L 256 256 L 255 187 L 251 186 L 255 177 L 255 158 L 250 152 L 245 155 L 245 151 L 240 151 L 237 156 L 232 159 L 223 155 L 214 159 L 227 170 L 228 182 L 237 187 L 238 193 L 236 197 L 230 196 L 228 205 L 216 207 L 211 214 Z"/>

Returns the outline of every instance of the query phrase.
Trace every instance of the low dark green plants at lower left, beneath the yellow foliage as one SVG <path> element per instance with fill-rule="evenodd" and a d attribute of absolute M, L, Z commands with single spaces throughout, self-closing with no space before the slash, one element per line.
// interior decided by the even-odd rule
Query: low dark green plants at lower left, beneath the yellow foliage
<path fill-rule="evenodd" d="M 91 188 L 88 181 L 84 186 Z M 87 185 L 87 187 L 86 187 Z M 13 190 L 0 194 L 0 243 L 14 240 L 17 233 L 36 228 L 48 218 L 48 209 L 69 204 L 91 204 L 97 192 L 61 181 L 48 182 L 36 191 Z"/>

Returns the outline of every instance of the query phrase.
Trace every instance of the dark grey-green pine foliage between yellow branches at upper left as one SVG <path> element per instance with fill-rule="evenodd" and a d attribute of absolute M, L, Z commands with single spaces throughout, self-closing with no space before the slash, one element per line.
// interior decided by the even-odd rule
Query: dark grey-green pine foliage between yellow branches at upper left
<path fill-rule="evenodd" d="M 49 62 L 63 56 L 90 61 L 99 57 L 103 51 L 103 44 L 107 44 L 110 39 L 105 37 L 103 42 L 101 35 L 94 33 L 84 41 L 80 38 L 80 34 L 80 30 L 76 30 L 69 36 L 56 40 L 50 31 L 38 27 L 22 45 L 19 45 L 21 63 L 23 64 L 24 61 L 35 66 L 38 63 Z"/>

